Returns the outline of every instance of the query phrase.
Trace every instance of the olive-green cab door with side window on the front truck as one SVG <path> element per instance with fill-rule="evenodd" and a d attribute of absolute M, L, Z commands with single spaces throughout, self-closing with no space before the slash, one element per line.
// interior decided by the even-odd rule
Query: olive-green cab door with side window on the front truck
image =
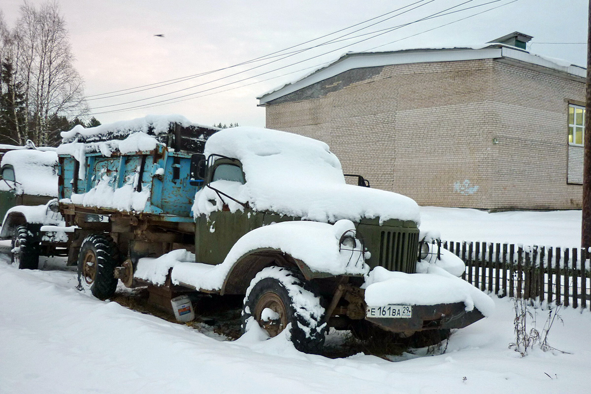
<path fill-rule="evenodd" d="M 222 209 L 210 213 L 209 218 L 202 214 L 196 219 L 195 253 L 196 261 L 207 264 L 223 262 L 232 246 L 249 230 L 248 207 L 243 210 L 230 211 L 230 204 L 236 204 L 232 198 L 232 190 L 245 183 L 242 165 L 235 159 L 217 159 L 210 172 L 210 181 L 206 187 L 213 187 L 218 192 L 209 193 L 208 201 L 214 206 L 222 201 Z M 216 181 L 225 181 L 226 187 L 216 187 Z M 236 183 L 236 184 L 232 184 Z M 219 182 L 217 184 L 220 184 Z M 236 198 L 237 200 L 238 198 Z"/>

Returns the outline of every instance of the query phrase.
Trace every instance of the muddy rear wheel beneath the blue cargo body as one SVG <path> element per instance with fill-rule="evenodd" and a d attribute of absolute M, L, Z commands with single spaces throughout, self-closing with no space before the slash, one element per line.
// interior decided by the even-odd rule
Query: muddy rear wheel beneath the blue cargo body
<path fill-rule="evenodd" d="M 78 255 L 78 288 L 90 290 L 99 299 L 112 297 L 117 288 L 115 267 L 119 262 L 118 256 L 115 242 L 110 236 L 87 236 Z"/>

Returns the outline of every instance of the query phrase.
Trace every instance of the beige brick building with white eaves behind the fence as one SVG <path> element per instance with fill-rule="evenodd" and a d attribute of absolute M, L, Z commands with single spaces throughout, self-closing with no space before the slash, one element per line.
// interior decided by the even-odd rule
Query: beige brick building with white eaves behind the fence
<path fill-rule="evenodd" d="M 320 139 L 345 172 L 424 206 L 579 209 L 586 70 L 530 39 L 350 53 L 259 105 L 268 128 Z"/>

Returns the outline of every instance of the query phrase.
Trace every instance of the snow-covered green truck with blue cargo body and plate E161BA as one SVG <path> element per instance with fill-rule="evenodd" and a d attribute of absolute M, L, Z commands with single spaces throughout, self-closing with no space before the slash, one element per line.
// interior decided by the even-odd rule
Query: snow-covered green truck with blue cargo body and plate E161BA
<path fill-rule="evenodd" d="M 243 295 L 243 330 L 287 330 L 309 352 L 329 327 L 409 337 L 491 312 L 458 278 L 463 262 L 421 234 L 417 204 L 347 184 L 323 142 L 187 122 L 63 134 L 60 211 L 80 288 L 106 299 L 121 279 L 169 308 L 183 294 Z M 209 137 L 204 151 L 181 144 L 183 129 Z"/>

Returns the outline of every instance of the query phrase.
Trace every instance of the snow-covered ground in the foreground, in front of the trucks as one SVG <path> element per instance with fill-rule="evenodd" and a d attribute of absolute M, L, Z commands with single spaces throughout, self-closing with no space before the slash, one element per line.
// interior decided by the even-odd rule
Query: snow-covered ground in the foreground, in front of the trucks
<path fill-rule="evenodd" d="M 103 302 L 74 289 L 59 259 L 18 270 L 0 255 L 0 393 L 558 393 L 587 392 L 591 313 L 561 310 L 550 344 L 514 341 L 509 299 L 492 317 L 458 330 L 444 354 L 389 362 L 357 354 L 327 359 L 296 351 L 283 336 L 219 341 Z M 57 270 L 56 270 L 57 268 Z M 53 269 L 47 271 L 47 269 Z M 538 310 L 538 329 L 546 311 Z M 249 333 L 250 334 L 250 333 Z"/>

